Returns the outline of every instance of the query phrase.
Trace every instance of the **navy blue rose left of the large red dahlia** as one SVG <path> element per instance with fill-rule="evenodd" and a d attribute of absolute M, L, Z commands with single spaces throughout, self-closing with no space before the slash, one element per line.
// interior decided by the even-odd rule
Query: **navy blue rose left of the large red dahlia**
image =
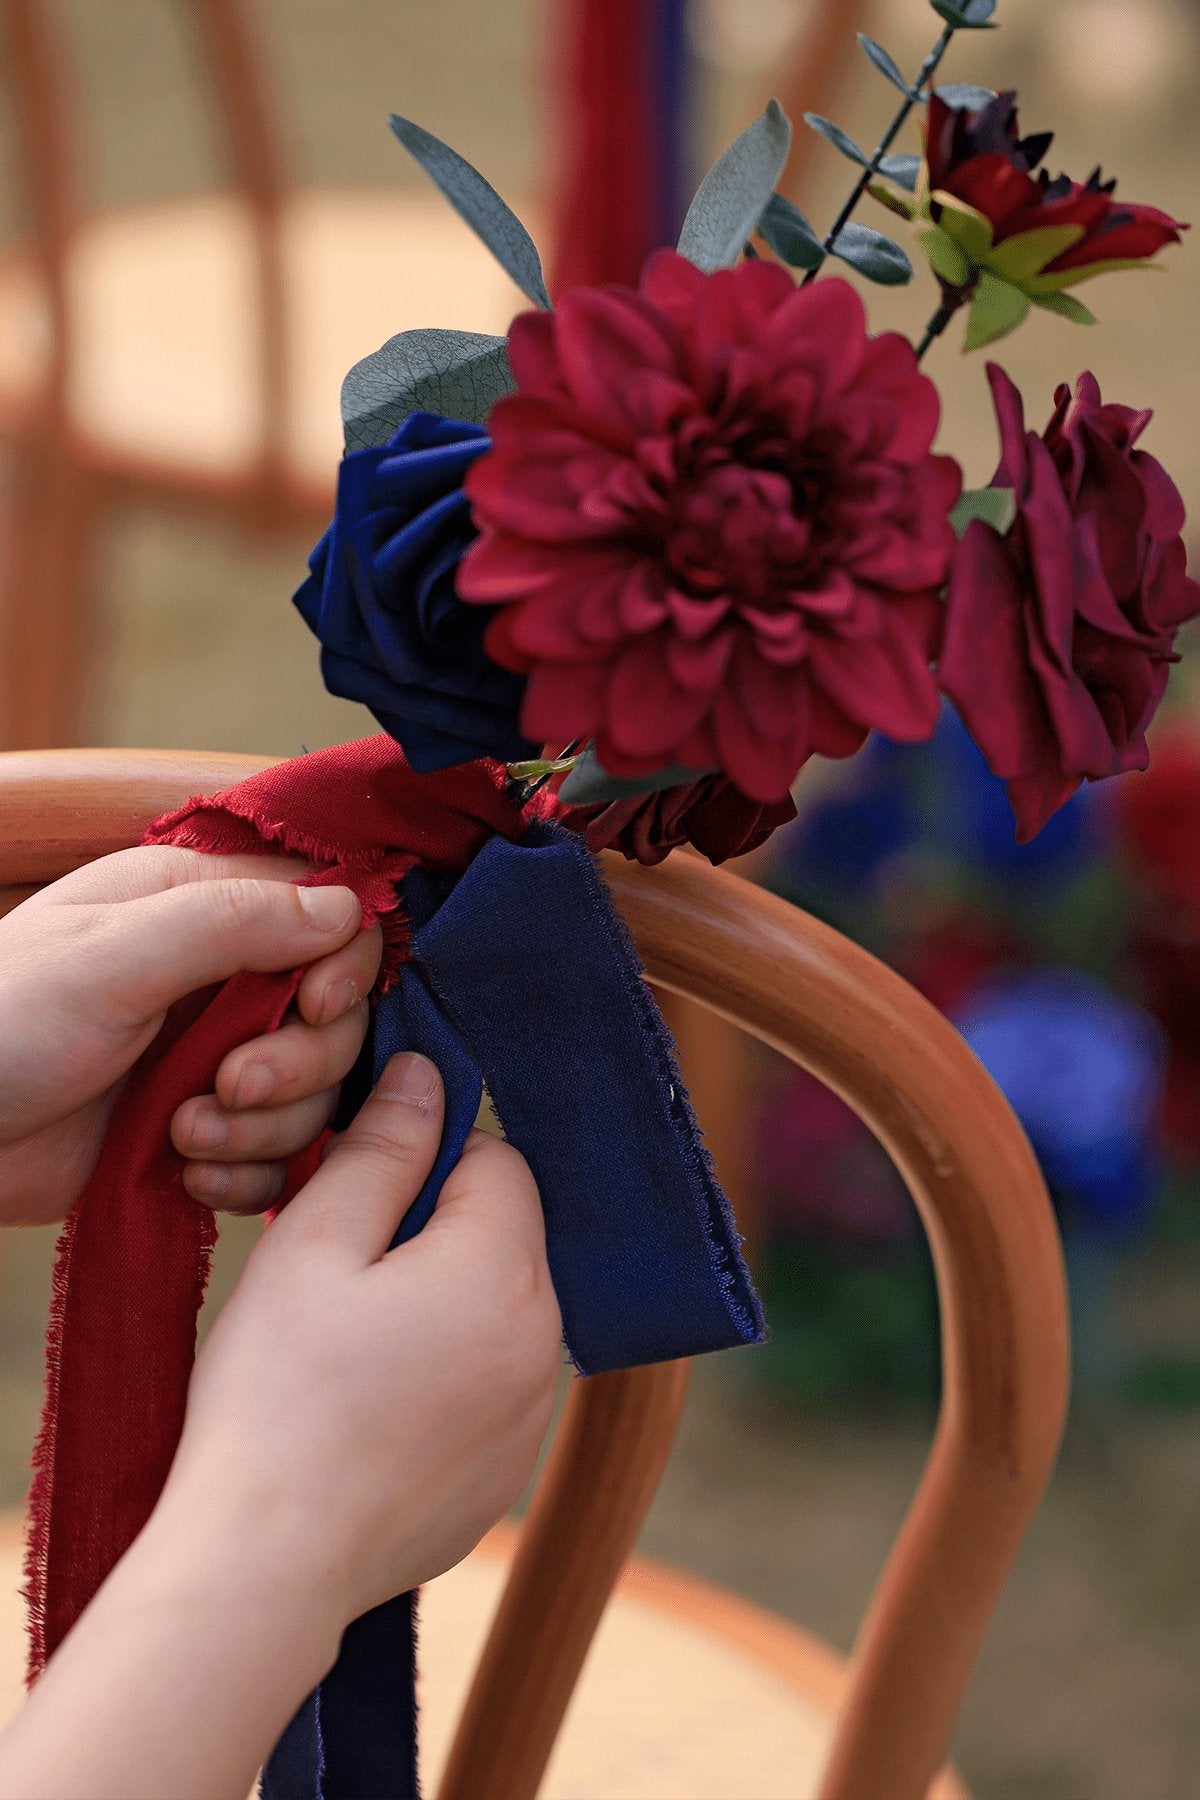
<path fill-rule="evenodd" d="M 329 693 L 371 707 L 421 772 L 536 754 L 516 729 L 525 679 L 484 652 L 495 608 L 455 590 L 477 535 L 462 477 L 489 446 L 480 425 L 414 412 L 389 443 L 347 455 L 295 596 Z"/>

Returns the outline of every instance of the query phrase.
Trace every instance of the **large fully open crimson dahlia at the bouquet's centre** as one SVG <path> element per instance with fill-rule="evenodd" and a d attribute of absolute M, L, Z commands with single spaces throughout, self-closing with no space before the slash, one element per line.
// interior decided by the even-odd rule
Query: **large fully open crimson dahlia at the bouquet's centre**
<path fill-rule="evenodd" d="M 774 803 L 813 751 L 930 734 L 961 477 L 912 346 L 869 338 L 853 288 L 664 250 L 640 290 L 522 315 L 509 351 L 459 592 L 500 607 L 527 736 Z"/>

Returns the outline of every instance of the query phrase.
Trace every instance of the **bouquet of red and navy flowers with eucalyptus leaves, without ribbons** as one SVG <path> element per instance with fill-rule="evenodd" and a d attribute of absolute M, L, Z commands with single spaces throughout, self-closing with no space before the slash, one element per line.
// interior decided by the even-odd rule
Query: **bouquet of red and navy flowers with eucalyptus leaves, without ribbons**
<path fill-rule="evenodd" d="M 335 693 L 365 702 L 416 770 L 502 760 L 590 848 L 712 862 L 793 817 L 813 756 L 871 733 L 928 738 L 948 697 L 1007 785 L 1020 841 L 1085 781 L 1146 767 L 1178 628 L 1200 614 L 1184 508 L 1141 448 L 1150 414 L 1061 385 L 1042 432 L 988 364 L 991 482 L 934 452 L 930 344 L 1148 268 L 1186 229 L 1099 169 L 1051 176 L 1051 133 L 1013 94 L 934 86 L 995 0 L 930 0 L 943 31 L 822 236 L 781 193 L 779 106 L 702 182 L 676 248 L 633 286 L 551 306 L 529 234 L 455 151 L 392 130 L 533 301 L 507 340 L 407 331 L 342 394 L 336 517 L 297 605 Z M 921 153 L 892 151 L 921 113 Z M 853 218 L 874 198 L 928 263 L 919 344 L 873 333 L 847 265 L 883 288 L 905 248 Z M 820 279 L 817 279 L 820 277 Z"/>

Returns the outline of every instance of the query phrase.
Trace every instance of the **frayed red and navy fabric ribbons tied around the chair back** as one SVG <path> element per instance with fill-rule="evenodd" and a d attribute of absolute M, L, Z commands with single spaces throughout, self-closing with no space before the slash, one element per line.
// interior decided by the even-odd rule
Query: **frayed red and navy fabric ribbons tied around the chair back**
<path fill-rule="evenodd" d="M 374 1075 L 419 1049 L 446 1087 L 437 1163 L 399 1240 L 426 1224 L 486 1082 L 538 1181 L 581 1373 L 761 1337 L 633 945 L 581 841 L 529 824 L 500 765 L 417 778 L 390 738 L 365 738 L 193 801 L 148 839 L 304 855 L 383 922 Z M 63 1231 L 31 1501 L 34 1672 L 149 1517 L 182 1429 L 214 1226 L 182 1186 L 169 1120 L 228 1049 L 281 1024 L 297 985 L 236 976 L 173 1010 Z M 290 1192 L 311 1168 L 293 1159 Z M 412 1620 L 403 1595 L 351 1625 L 268 1764 L 268 1800 L 416 1796 Z"/>

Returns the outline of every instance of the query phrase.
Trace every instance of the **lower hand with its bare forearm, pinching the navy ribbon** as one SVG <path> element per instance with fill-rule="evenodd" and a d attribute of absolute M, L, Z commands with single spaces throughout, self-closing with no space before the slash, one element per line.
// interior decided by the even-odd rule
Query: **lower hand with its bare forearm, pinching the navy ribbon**
<path fill-rule="evenodd" d="M 0 1742 L 0 1800 L 245 1795 L 347 1622 L 529 1480 L 560 1323 L 525 1163 L 473 1134 L 425 1231 L 437 1071 L 396 1057 L 205 1339 L 155 1514 Z"/>

